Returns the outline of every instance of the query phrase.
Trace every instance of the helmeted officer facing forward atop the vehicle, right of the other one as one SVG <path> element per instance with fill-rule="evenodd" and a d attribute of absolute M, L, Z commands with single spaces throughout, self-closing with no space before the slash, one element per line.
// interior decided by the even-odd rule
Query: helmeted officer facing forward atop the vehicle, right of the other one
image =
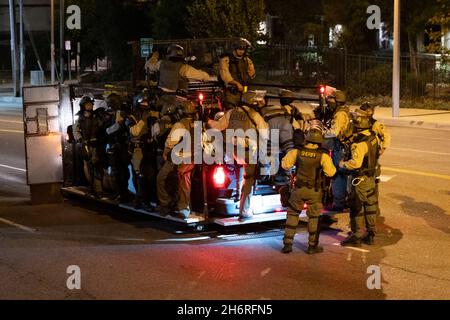
<path fill-rule="evenodd" d="M 239 104 L 244 87 L 256 76 L 253 61 L 248 57 L 250 48 L 251 44 L 247 39 L 239 38 L 233 43 L 233 52 L 220 58 L 219 82 L 224 87 L 226 108 Z"/>

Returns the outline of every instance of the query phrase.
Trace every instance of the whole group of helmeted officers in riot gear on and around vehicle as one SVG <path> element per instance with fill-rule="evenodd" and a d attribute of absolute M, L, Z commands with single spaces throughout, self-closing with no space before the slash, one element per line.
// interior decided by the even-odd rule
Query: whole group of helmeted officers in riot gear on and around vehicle
<path fill-rule="evenodd" d="M 342 245 L 373 244 L 379 211 L 378 158 L 390 141 L 386 128 L 373 119 L 373 106 L 366 103 L 351 113 L 345 94 L 339 90 L 327 94 L 325 105 L 316 108 L 312 118 L 302 115 L 298 104 L 293 103 L 296 95 L 289 90 L 281 90 L 279 105 L 269 105 L 257 91 L 246 90 L 256 75 L 247 54 L 249 49 L 250 43 L 241 38 L 233 46 L 233 52 L 221 57 L 219 83 L 223 86 L 224 112 L 221 117 L 201 120 L 205 128 L 220 131 L 253 128 L 264 135 L 268 131 L 263 129 L 278 130 L 280 148 L 268 156 L 281 164 L 278 171 L 269 169 L 274 182 L 290 185 L 284 189 L 287 221 L 282 252 L 292 251 L 304 204 L 309 218 L 306 251 L 313 254 L 323 250 L 318 244 L 323 193 L 327 191 L 322 183 L 324 175 L 332 178 L 332 211 L 350 208 L 352 232 Z M 144 90 L 133 99 L 132 107 L 112 93 L 106 98 L 107 108 L 95 111 L 94 100 L 84 96 L 74 125 L 74 138 L 79 142 L 84 172 L 94 196 L 104 195 L 105 176 L 110 176 L 111 189 L 120 202 L 133 201 L 135 207 L 186 219 L 191 213 L 191 175 L 195 165 L 193 162 L 176 165 L 171 160 L 173 148 L 181 141 L 174 133 L 180 128 L 193 132 L 194 121 L 199 119 L 197 106 L 185 95 L 188 81 L 206 81 L 211 77 L 188 65 L 184 50 L 178 45 L 168 48 L 166 59 L 153 59 L 146 68 L 159 72 L 157 91 Z M 259 138 L 258 141 L 265 141 L 269 136 Z M 248 138 L 238 140 L 235 143 L 242 144 L 245 156 L 235 155 L 229 180 L 239 199 L 239 218 L 247 220 L 253 216 L 250 200 L 259 168 L 249 158 L 257 152 L 258 142 Z M 194 149 L 195 146 L 191 151 Z M 179 156 L 192 158 L 193 154 Z M 134 197 L 128 191 L 130 164 Z M 295 174 L 291 174 L 293 167 Z M 155 203 L 157 207 L 152 208 Z"/>

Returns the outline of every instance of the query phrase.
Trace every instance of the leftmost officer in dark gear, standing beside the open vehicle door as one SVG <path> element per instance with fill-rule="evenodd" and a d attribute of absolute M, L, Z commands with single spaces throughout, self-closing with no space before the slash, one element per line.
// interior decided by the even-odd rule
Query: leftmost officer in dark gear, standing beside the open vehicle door
<path fill-rule="evenodd" d="M 103 197 L 103 166 L 105 161 L 106 134 L 103 108 L 94 111 L 94 99 L 83 96 L 80 111 L 74 125 L 74 138 L 81 143 L 84 173 L 90 184 L 90 192 L 96 198 Z"/>

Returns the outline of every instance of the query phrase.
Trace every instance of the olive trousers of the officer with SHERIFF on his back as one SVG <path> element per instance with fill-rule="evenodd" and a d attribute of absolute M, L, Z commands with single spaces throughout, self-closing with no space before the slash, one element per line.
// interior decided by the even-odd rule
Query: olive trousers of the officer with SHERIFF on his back
<path fill-rule="evenodd" d="M 289 206 L 287 209 L 286 228 L 284 231 L 284 245 L 292 245 L 294 236 L 297 231 L 299 214 L 303 210 L 306 203 L 308 208 L 308 244 L 317 246 L 319 243 L 319 217 L 322 211 L 322 192 L 315 191 L 307 187 L 295 188 L 289 197 Z"/>

